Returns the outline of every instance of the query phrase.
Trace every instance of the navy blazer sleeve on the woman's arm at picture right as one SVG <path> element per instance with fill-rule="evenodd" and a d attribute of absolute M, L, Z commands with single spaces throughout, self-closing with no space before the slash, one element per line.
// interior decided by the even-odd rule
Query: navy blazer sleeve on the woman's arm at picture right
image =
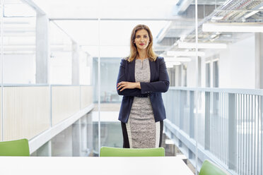
<path fill-rule="evenodd" d="M 141 83 L 141 93 L 166 92 L 170 82 L 164 59 L 160 59 L 159 80 L 151 83 Z"/>

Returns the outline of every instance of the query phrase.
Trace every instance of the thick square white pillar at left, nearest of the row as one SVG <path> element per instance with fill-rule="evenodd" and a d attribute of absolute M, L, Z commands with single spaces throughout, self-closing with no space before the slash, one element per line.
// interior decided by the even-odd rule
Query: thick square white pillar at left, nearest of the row
<path fill-rule="evenodd" d="M 37 13 L 36 32 L 36 83 L 49 83 L 49 19 L 47 15 Z"/>

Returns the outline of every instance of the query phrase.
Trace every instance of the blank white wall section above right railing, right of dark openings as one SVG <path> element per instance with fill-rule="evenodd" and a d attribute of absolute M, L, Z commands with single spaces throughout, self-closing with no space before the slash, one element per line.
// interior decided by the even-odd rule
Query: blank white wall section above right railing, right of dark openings
<path fill-rule="evenodd" d="M 218 71 L 221 88 L 255 88 L 255 35 L 222 50 Z"/>

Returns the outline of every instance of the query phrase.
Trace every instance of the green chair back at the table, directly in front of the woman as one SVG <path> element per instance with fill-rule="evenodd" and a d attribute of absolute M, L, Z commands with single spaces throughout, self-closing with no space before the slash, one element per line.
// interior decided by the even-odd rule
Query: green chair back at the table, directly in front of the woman
<path fill-rule="evenodd" d="M 163 147 L 157 148 L 118 148 L 101 147 L 100 157 L 162 157 L 165 156 Z"/>

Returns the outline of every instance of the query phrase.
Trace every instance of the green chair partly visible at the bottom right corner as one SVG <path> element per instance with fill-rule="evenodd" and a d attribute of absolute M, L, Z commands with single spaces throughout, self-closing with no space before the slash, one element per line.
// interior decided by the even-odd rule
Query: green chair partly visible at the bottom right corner
<path fill-rule="evenodd" d="M 203 164 L 201 165 L 201 169 L 199 175 L 229 175 L 226 170 L 221 169 L 216 164 L 210 162 L 209 160 L 204 160 Z"/>

